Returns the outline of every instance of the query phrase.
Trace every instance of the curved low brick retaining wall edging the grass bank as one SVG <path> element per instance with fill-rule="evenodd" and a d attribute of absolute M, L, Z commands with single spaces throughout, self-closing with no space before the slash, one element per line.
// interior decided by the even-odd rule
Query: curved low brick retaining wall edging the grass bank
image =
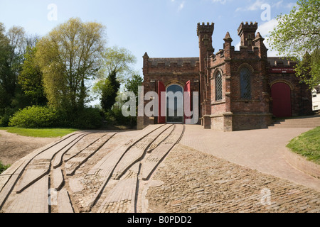
<path fill-rule="evenodd" d="M 306 160 L 305 157 L 292 152 L 289 148 L 284 148 L 284 158 L 298 170 L 320 179 L 320 165 Z"/>

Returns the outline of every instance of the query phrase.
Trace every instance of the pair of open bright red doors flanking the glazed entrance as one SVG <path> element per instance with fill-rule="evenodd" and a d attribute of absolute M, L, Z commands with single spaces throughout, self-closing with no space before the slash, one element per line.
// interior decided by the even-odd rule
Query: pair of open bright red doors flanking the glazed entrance
<path fill-rule="evenodd" d="M 162 92 L 164 92 L 166 94 L 166 86 L 164 86 L 163 82 L 159 81 L 158 82 L 158 96 L 159 96 L 158 123 L 166 123 L 166 112 L 167 112 L 167 110 L 166 110 L 166 108 L 167 108 L 167 106 L 166 106 L 166 96 L 163 96 L 163 95 L 161 96 Z M 188 95 L 188 99 L 190 100 L 189 103 L 191 103 L 191 84 L 190 84 L 190 81 L 186 82 L 186 85 L 184 86 L 184 89 L 183 89 L 183 97 L 185 98 L 186 95 Z M 162 109 L 162 108 L 165 108 L 165 110 Z M 187 108 L 190 109 L 190 111 L 191 111 L 191 105 L 189 105 Z M 186 117 L 183 114 L 183 123 L 185 123 L 186 119 L 188 119 L 188 118 L 191 118 L 191 117 Z"/>

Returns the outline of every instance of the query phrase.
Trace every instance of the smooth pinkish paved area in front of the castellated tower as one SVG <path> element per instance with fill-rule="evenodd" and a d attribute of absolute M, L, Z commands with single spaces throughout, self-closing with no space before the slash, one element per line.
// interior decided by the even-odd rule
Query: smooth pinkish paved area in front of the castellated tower
<path fill-rule="evenodd" d="M 320 192 L 319 179 L 297 170 L 284 158 L 284 149 L 289 141 L 309 130 L 269 128 L 224 133 L 203 130 L 201 126 L 186 126 L 181 144 Z"/>

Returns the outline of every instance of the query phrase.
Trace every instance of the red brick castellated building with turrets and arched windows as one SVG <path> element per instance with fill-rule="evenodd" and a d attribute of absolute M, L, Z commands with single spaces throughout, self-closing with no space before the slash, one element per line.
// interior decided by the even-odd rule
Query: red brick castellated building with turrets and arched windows
<path fill-rule="evenodd" d="M 264 38 L 256 33 L 257 23 L 240 24 L 239 51 L 226 33 L 223 49 L 214 53 L 213 31 L 213 23 L 198 23 L 199 57 L 150 58 L 144 55 L 144 94 L 159 94 L 159 113 L 160 94 L 169 91 L 198 92 L 198 123 L 219 131 L 267 128 L 272 116 L 312 113 L 311 91 L 295 76 L 294 62 L 267 57 Z M 148 102 L 144 101 L 144 106 Z M 185 122 L 186 117 L 159 114 L 152 118 L 138 117 L 138 128 L 153 123 Z"/>

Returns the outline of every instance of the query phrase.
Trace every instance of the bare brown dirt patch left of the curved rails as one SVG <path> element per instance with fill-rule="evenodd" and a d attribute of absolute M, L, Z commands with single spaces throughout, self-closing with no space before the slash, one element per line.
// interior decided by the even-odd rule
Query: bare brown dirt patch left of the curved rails
<path fill-rule="evenodd" d="M 0 161 L 4 165 L 12 165 L 48 143 L 60 138 L 33 138 L 0 130 Z"/>

